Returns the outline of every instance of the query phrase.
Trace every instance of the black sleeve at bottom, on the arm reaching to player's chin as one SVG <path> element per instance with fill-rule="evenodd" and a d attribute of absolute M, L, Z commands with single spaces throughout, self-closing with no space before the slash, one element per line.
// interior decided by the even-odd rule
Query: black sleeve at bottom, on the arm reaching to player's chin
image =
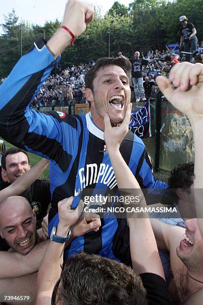
<path fill-rule="evenodd" d="M 154 273 L 139 275 L 147 291 L 148 305 L 172 305 L 172 299 L 164 279 Z"/>

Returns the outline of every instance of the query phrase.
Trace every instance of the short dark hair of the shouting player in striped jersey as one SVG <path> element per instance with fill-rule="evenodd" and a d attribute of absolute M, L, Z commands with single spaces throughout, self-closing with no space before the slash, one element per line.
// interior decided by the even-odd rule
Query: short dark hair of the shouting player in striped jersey
<path fill-rule="evenodd" d="M 109 65 L 115 65 L 118 67 L 121 67 L 127 77 L 131 78 L 131 63 L 128 59 L 123 57 L 102 57 L 99 58 L 95 65 L 88 71 L 88 73 L 85 76 L 85 85 L 86 88 L 90 88 L 93 91 L 93 81 L 96 78 L 97 72 L 100 70 L 101 67 L 109 66 Z"/>

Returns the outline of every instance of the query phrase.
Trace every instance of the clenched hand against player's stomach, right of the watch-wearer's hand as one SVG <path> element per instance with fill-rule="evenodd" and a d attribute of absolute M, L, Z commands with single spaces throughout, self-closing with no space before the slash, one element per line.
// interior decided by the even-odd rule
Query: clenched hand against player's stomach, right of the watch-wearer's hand
<path fill-rule="evenodd" d="M 101 226 L 100 216 L 94 213 L 83 213 L 75 225 L 71 227 L 73 238 L 93 230 L 97 232 Z"/>

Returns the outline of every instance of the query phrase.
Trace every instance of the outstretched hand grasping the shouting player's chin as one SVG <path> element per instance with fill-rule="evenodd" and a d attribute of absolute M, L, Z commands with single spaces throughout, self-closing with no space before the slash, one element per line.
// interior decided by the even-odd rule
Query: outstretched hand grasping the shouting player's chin
<path fill-rule="evenodd" d="M 128 132 L 132 104 L 126 108 L 125 118 L 119 127 L 112 127 L 108 114 L 104 114 L 104 141 L 108 152 L 111 149 L 119 149 L 120 143 Z"/>

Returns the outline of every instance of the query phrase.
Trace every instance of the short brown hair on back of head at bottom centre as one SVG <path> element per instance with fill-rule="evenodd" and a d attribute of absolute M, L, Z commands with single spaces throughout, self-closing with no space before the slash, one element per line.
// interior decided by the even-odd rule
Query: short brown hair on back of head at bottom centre
<path fill-rule="evenodd" d="M 64 305 L 147 305 L 142 281 L 130 267 L 84 252 L 64 262 L 54 300 Z"/>

